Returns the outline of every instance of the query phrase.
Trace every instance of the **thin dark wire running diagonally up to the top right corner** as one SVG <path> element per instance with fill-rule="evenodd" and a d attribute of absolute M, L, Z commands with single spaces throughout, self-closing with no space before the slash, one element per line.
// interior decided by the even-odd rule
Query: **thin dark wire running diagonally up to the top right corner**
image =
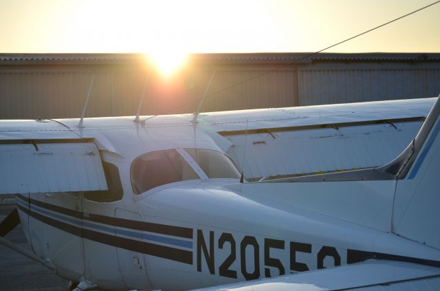
<path fill-rule="evenodd" d="M 339 43 L 335 43 L 334 45 L 330 45 L 329 47 L 325 47 L 325 48 L 323 48 L 322 50 L 318 50 L 317 52 L 313 52 L 313 53 L 311 53 L 311 54 L 307 54 L 306 56 L 303 56 L 302 58 L 300 58 L 300 59 L 298 59 L 298 60 L 296 60 L 296 61 L 292 61 L 292 62 L 284 63 L 283 65 L 280 65 L 280 66 L 278 66 L 278 67 L 274 67 L 274 69 L 270 69 L 270 70 L 268 70 L 268 71 L 266 71 L 266 72 L 263 72 L 263 73 L 261 73 L 261 74 L 258 74 L 258 75 L 256 75 L 256 76 L 252 76 L 252 77 L 247 78 L 247 79 L 245 79 L 245 80 L 242 80 L 242 81 L 240 81 L 240 82 L 238 82 L 238 83 L 234 83 L 234 84 L 232 84 L 232 85 L 230 85 L 230 86 L 228 86 L 228 87 L 224 87 L 223 89 L 220 89 L 219 91 L 215 91 L 214 93 L 211 93 L 211 94 L 206 95 L 205 98 L 210 98 L 210 97 L 212 97 L 212 96 L 214 96 L 214 95 L 216 95 L 216 94 L 219 94 L 219 93 L 221 93 L 221 92 L 223 92 L 223 91 L 226 91 L 226 90 L 228 90 L 228 89 L 234 88 L 234 87 L 239 86 L 239 85 L 241 85 L 241 84 L 243 84 L 243 83 L 247 83 L 247 82 L 249 82 L 250 80 L 254 80 L 254 79 L 256 79 L 256 78 L 260 78 L 261 76 L 265 76 L 265 75 L 270 74 L 270 73 L 272 73 L 272 72 L 276 72 L 276 71 L 278 71 L 278 69 L 282 69 L 283 67 L 287 67 L 288 65 L 294 65 L 295 63 L 299 63 L 300 61 L 303 61 L 305 58 L 310 58 L 311 56 L 314 56 L 315 54 L 319 54 L 320 52 L 324 52 L 325 50 L 329 50 L 331 47 L 336 47 L 336 45 L 340 45 L 340 44 L 345 43 L 345 42 L 347 42 L 347 41 L 351 41 L 352 39 L 355 39 L 355 38 L 357 38 L 358 36 L 362 36 L 362 35 L 364 35 L 364 34 L 367 34 L 367 33 L 369 33 L 369 32 L 372 32 L 373 30 L 377 30 L 378 28 L 382 28 L 382 27 L 384 27 L 385 25 L 388 25 L 388 24 L 390 24 L 390 23 L 393 23 L 393 22 L 395 22 L 395 21 L 398 21 L 398 20 L 400 20 L 400 19 L 403 19 L 403 18 L 405 18 L 405 17 L 408 17 L 408 16 L 410 16 L 411 14 L 415 14 L 415 13 L 421 11 L 421 10 L 424 10 L 424 9 L 426 9 L 426 8 L 429 8 L 430 6 L 434 6 L 434 5 L 437 4 L 437 3 L 440 3 L 440 0 L 439 0 L 439 1 L 435 1 L 435 2 L 433 2 L 433 3 L 430 3 L 430 4 L 428 4 L 427 6 L 423 6 L 422 8 L 419 8 L 419 9 L 414 10 L 414 11 L 412 11 L 412 12 L 409 12 L 409 13 L 407 13 L 407 14 L 404 14 L 404 15 L 402 15 L 401 17 L 397 17 L 396 19 L 393 19 L 393 20 L 391 20 L 391 21 L 388 21 L 388 22 L 386 22 L 386 23 L 383 23 L 383 24 L 381 24 L 381 25 L 378 25 L 378 26 L 376 26 L 375 28 L 371 28 L 370 30 L 366 30 L 366 31 L 364 31 L 364 32 L 362 32 L 362 33 L 360 33 L 360 34 L 356 34 L 355 36 L 351 36 L 351 37 L 349 37 L 348 39 L 344 39 L 344 41 L 340 41 Z M 190 101 L 190 102 L 185 103 L 185 104 L 183 104 L 183 105 L 180 105 L 180 106 L 174 107 L 174 108 L 172 108 L 172 109 L 174 110 L 174 109 L 179 109 L 179 108 L 182 108 L 182 107 L 186 107 L 186 106 L 188 106 L 188 105 L 190 105 L 190 104 L 192 104 L 192 103 L 199 102 L 200 100 L 201 100 L 201 98 L 199 98 L 199 99 L 197 99 L 197 100 Z M 156 116 L 157 116 L 157 115 L 155 115 L 155 116 L 151 116 L 151 117 L 149 117 L 149 118 L 146 118 L 146 119 L 144 119 L 144 121 L 145 121 L 145 120 L 148 120 L 148 119 L 151 119 L 151 118 L 154 118 L 154 117 L 156 117 Z"/>

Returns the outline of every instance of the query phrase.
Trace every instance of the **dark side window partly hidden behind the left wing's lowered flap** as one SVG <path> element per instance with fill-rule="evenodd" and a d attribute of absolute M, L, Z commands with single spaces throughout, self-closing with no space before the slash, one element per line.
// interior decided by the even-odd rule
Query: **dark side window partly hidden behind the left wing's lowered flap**
<path fill-rule="evenodd" d="M 121 178 L 118 167 L 108 162 L 102 162 L 104 167 L 105 180 L 107 180 L 107 188 L 104 191 L 87 191 L 84 197 L 94 202 L 115 202 L 122 199 L 124 191 L 122 190 Z"/>

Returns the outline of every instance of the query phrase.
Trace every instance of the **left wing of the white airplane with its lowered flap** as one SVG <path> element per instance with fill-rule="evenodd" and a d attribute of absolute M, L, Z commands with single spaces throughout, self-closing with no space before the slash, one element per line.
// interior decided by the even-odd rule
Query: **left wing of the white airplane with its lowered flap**
<path fill-rule="evenodd" d="M 0 140 L 0 195 L 107 190 L 96 144 L 57 122 L 2 122 Z"/>

